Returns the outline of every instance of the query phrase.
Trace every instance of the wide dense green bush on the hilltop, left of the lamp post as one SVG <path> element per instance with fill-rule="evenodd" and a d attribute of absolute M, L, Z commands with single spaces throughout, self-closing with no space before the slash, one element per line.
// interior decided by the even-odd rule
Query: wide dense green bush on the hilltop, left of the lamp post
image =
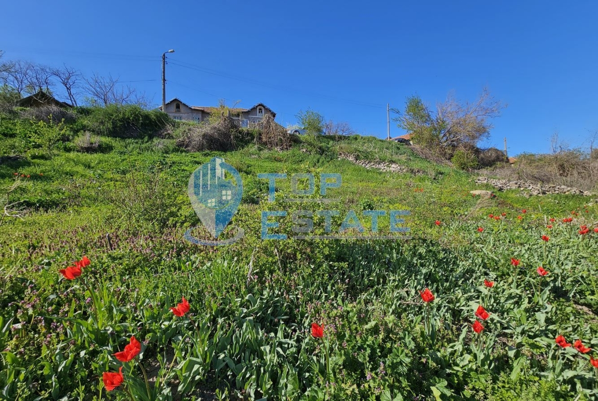
<path fill-rule="evenodd" d="M 76 112 L 80 115 L 77 130 L 87 130 L 100 136 L 152 137 L 172 124 L 166 114 L 155 110 L 147 111 L 135 105 L 76 108 Z"/>

